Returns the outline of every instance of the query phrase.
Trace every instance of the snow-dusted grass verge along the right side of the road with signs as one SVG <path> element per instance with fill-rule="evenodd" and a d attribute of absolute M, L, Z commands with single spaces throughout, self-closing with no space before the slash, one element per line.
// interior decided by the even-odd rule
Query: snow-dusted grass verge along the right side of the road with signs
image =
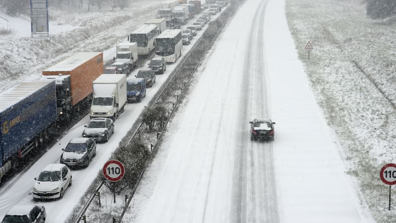
<path fill-rule="evenodd" d="M 390 62 L 396 50 L 395 24 L 368 19 L 362 2 L 286 0 L 286 13 L 299 58 L 338 136 L 360 202 L 367 204 L 375 221 L 395 222 L 396 211 L 387 210 L 388 187 L 379 177 L 380 168 L 396 158 L 395 108 L 373 84 L 391 101 L 396 99 Z M 314 48 L 309 60 L 304 50 L 308 41 Z"/>

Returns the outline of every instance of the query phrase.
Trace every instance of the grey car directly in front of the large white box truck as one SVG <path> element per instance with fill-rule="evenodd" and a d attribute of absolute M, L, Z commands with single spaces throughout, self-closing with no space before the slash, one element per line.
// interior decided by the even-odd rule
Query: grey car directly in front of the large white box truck
<path fill-rule="evenodd" d="M 84 125 L 83 137 L 94 139 L 97 142 L 107 142 L 114 134 L 114 122 L 110 118 L 93 118 L 88 125 Z"/>

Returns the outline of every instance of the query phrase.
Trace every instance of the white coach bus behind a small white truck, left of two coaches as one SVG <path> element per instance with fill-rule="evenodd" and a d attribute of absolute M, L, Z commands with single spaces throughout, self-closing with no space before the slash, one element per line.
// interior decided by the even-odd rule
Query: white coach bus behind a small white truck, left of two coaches
<path fill-rule="evenodd" d="M 155 49 L 154 40 L 157 36 L 157 26 L 154 24 L 145 24 L 129 34 L 128 41 L 138 44 L 138 55 L 149 55 Z"/>

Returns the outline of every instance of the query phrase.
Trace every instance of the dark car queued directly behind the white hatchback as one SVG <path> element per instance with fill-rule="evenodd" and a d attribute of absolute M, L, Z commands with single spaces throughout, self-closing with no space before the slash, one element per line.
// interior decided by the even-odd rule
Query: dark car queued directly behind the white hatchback
<path fill-rule="evenodd" d="M 91 159 L 96 156 L 96 142 L 90 138 L 75 138 L 62 150 L 61 164 L 88 167 Z"/>

